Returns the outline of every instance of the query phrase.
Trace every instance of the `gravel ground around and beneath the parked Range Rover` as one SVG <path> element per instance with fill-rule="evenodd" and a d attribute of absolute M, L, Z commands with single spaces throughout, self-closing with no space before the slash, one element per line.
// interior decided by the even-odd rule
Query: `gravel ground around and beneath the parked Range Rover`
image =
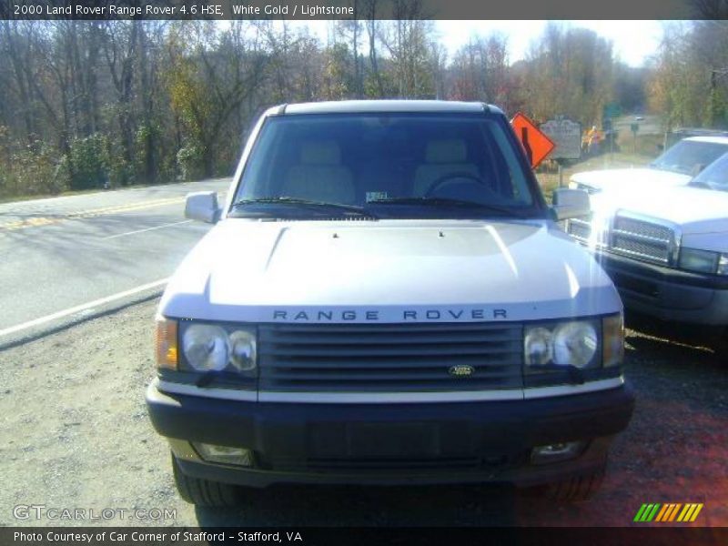
<path fill-rule="evenodd" d="M 281 487 L 239 509 L 177 497 L 167 445 L 147 418 L 157 301 L 0 351 L 0 525 L 624 526 L 644 502 L 703 502 L 728 525 L 728 363 L 709 349 L 628 332 L 637 395 L 602 490 L 555 505 L 508 487 Z M 175 511 L 174 518 L 18 520 L 17 505 Z"/>

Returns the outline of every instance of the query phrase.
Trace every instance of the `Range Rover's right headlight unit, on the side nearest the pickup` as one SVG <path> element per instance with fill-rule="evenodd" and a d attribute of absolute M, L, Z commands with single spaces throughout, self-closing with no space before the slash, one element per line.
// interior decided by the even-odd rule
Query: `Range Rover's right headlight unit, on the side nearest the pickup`
<path fill-rule="evenodd" d="M 599 319 L 569 320 L 526 327 L 523 337 L 526 371 L 540 372 L 569 367 L 588 369 L 620 364 L 622 315 L 608 317 L 603 321 L 604 328 Z M 602 330 L 609 339 L 602 339 Z"/>

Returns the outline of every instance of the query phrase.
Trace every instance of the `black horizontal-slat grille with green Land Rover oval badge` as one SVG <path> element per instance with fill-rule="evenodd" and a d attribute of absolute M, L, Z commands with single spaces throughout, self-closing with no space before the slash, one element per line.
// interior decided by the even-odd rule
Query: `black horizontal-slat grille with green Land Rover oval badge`
<path fill-rule="evenodd" d="M 258 335 L 261 391 L 523 388 L 518 324 L 267 324 Z"/>

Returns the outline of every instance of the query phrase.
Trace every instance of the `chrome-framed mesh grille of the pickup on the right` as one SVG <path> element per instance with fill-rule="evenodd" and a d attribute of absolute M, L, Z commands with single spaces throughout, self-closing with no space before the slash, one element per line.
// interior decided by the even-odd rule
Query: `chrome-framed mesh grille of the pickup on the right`
<path fill-rule="evenodd" d="M 612 252 L 669 265 L 674 244 L 670 227 L 632 217 L 614 217 L 609 245 Z"/>

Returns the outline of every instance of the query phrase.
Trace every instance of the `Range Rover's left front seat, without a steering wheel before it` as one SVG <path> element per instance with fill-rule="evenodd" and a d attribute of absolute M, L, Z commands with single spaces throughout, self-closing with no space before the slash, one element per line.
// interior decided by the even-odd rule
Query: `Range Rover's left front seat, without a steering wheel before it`
<path fill-rule="evenodd" d="M 298 165 L 288 169 L 280 193 L 327 203 L 356 202 L 351 172 L 341 165 L 339 145 L 331 140 L 301 145 Z"/>

